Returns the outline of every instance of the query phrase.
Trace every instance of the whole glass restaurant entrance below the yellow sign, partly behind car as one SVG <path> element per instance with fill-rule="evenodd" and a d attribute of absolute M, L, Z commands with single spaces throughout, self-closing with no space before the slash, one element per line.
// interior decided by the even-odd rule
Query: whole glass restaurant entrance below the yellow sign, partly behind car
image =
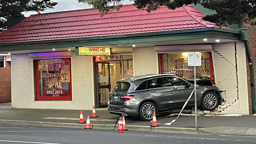
<path fill-rule="evenodd" d="M 107 107 L 108 94 L 117 81 L 133 76 L 132 54 L 95 56 L 93 61 L 95 107 Z"/>

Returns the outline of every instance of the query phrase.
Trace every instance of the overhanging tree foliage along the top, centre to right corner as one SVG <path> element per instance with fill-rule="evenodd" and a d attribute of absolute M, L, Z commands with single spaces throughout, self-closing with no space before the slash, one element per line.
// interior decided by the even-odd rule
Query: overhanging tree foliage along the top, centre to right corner
<path fill-rule="evenodd" d="M 109 10 L 119 10 L 122 0 L 78 0 L 98 9 L 102 14 Z M 249 22 L 256 16 L 256 0 L 133 0 L 134 6 L 146 11 L 155 11 L 160 6 L 169 9 L 181 7 L 184 4 L 200 4 L 205 8 L 214 10 L 213 15 L 206 15 L 203 19 L 216 24 L 237 24 Z"/>

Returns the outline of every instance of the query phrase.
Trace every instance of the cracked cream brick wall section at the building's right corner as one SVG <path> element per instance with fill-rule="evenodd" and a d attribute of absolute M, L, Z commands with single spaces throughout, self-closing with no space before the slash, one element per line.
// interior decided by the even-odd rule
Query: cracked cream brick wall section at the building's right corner
<path fill-rule="evenodd" d="M 243 42 L 213 44 L 215 79 L 220 90 L 226 91 L 226 101 L 231 103 L 222 113 L 249 114 L 247 69 Z M 237 70 L 236 70 L 237 66 Z"/>

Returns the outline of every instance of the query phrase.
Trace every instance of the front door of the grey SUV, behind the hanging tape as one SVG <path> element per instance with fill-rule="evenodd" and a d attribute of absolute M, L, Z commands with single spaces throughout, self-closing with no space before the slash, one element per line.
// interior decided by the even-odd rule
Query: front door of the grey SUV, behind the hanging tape
<path fill-rule="evenodd" d="M 183 79 L 176 76 L 166 77 L 166 80 L 167 82 L 169 82 L 169 88 L 171 89 L 173 94 L 173 107 L 182 107 L 187 101 L 187 98 L 193 91 L 194 87 L 192 85 L 189 85 Z M 193 104 L 194 100 L 195 98 L 194 96 L 192 96 L 188 104 Z"/>

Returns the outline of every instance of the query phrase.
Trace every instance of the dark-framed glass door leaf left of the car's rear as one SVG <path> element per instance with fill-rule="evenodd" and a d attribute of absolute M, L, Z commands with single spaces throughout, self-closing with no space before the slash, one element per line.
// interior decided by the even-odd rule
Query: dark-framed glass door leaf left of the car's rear
<path fill-rule="evenodd" d="M 107 107 L 108 105 L 108 94 L 110 92 L 110 71 L 108 62 L 97 62 L 96 63 L 96 83 L 98 83 L 98 93 L 96 96 L 96 107 Z"/>

